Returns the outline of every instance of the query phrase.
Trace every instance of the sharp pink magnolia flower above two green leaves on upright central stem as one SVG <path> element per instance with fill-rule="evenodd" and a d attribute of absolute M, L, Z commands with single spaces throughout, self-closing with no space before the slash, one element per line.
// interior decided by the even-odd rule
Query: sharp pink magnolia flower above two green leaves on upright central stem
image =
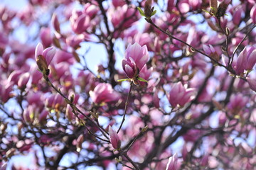
<path fill-rule="evenodd" d="M 122 67 L 127 77 L 130 79 L 136 77 L 148 60 L 149 52 L 146 45 L 141 46 L 137 42 L 129 45 L 122 60 Z"/>

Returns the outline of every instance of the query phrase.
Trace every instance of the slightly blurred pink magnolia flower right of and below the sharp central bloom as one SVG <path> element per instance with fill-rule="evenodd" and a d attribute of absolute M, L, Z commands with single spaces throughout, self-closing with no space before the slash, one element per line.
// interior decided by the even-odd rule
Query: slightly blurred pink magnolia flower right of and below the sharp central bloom
<path fill-rule="evenodd" d="M 186 89 L 181 82 L 174 84 L 169 93 L 169 102 L 175 108 L 177 105 L 185 106 L 186 103 L 192 100 L 194 89 Z"/>

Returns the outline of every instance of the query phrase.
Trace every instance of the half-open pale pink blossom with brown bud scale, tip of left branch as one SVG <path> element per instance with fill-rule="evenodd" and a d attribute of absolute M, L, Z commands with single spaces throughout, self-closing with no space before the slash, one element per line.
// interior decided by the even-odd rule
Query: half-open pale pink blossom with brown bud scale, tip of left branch
<path fill-rule="evenodd" d="M 38 68 L 41 71 L 48 69 L 48 65 L 53 60 L 55 52 L 56 50 L 54 47 L 48 47 L 43 50 L 43 45 L 41 43 L 38 43 L 38 45 L 36 46 L 35 57 L 36 64 L 38 64 Z"/>

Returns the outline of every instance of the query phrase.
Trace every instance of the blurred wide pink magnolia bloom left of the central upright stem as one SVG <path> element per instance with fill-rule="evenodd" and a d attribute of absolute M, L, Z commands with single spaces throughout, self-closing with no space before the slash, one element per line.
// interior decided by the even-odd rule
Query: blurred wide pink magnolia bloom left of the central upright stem
<path fill-rule="evenodd" d="M 112 86 L 106 83 L 97 84 L 94 91 L 90 91 L 89 94 L 92 101 L 97 104 L 117 101 L 120 98 L 120 95 L 112 89 Z"/>

